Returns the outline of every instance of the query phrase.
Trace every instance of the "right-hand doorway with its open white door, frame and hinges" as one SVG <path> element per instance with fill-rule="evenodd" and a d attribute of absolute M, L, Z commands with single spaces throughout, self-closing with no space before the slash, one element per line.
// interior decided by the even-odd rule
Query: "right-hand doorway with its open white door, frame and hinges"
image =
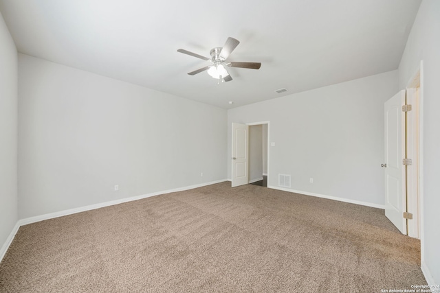
<path fill-rule="evenodd" d="M 408 82 L 406 90 L 385 103 L 385 162 L 382 164 L 385 174 L 386 217 L 399 228 L 401 233 L 421 241 L 423 241 L 422 68 L 423 63 Z M 395 110 L 391 107 L 393 99 L 395 99 Z M 394 113 L 396 115 L 393 115 Z"/>

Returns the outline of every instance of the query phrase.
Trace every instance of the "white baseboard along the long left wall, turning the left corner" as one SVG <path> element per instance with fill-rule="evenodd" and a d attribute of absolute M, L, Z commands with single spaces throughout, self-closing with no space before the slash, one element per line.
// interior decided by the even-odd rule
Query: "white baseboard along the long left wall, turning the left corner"
<path fill-rule="evenodd" d="M 201 184 L 197 184 L 197 185 L 190 185 L 190 186 L 186 186 L 186 187 L 179 187 L 179 188 L 175 188 L 175 189 L 157 191 L 157 192 L 153 192 L 151 194 L 142 194 L 141 196 L 132 196 L 130 198 L 122 198 L 120 200 L 111 200 L 109 202 L 101 202 L 99 204 L 91 204 L 91 205 L 88 205 L 85 207 L 78 207 L 76 209 L 67 209 L 65 211 L 56 211 L 54 213 L 46 213 L 45 215 L 36 215 L 35 217 L 21 219 L 17 222 L 17 224 L 15 224 L 10 235 L 8 236 L 8 239 L 6 239 L 6 242 L 1 247 L 0 261 L 5 256 L 5 253 L 8 250 L 9 246 L 11 245 L 12 240 L 15 237 L 15 234 L 17 234 L 17 231 L 19 231 L 19 228 L 23 225 L 32 224 L 35 222 L 40 222 L 40 221 L 49 220 L 49 219 L 53 219 L 53 218 L 63 217 L 64 215 L 72 215 L 73 213 L 80 213 L 83 211 L 91 211 L 93 209 L 100 209 L 101 207 L 109 207 L 111 205 L 121 204 L 123 202 L 131 202 L 133 200 L 142 200 L 142 198 L 149 198 L 151 196 L 159 196 L 160 194 L 170 194 L 172 192 L 184 191 L 184 190 L 188 190 L 188 189 L 195 189 L 197 187 L 203 187 L 203 186 L 221 183 L 221 182 L 225 182 L 225 181 L 227 181 L 227 180 L 226 179 L 216 180 L 216 181 L 211 181 L 208 183 L 201 183 Z"/>

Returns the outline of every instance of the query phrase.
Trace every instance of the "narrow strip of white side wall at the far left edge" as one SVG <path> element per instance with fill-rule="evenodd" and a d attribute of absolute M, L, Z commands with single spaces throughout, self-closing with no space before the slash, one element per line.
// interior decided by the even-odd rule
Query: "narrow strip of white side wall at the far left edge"
<path fill-rule="evenodd" d="M 0 259 L 18 220 L 17 80 L 17 48 L 0 14 Z"/>

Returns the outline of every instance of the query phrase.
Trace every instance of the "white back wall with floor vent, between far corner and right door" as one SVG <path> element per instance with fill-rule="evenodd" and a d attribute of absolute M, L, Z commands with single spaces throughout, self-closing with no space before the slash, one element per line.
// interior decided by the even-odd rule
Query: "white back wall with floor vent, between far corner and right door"
<path fill-rule="evenodd" d="M 382 206 L 384 102 L 395 93 L 390 71 L 234 108 L 228 124 L 270 121 L 268 185 L 291 174 L 292 190 Z"/>

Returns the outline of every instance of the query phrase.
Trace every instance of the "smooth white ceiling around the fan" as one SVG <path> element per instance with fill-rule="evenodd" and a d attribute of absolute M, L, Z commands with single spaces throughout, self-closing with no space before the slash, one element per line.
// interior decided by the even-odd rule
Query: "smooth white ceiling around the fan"
<path fill-rule="evenodd" d="M 0 0 L 19 52 L 221 108 L 397 69 L 419 0 Z M 202 72 L 241 41 L 217 85 Z M 286 88 L 282 94 L 276 89 Z M 228 104 L 233 101 L 234 104 Z"/>

